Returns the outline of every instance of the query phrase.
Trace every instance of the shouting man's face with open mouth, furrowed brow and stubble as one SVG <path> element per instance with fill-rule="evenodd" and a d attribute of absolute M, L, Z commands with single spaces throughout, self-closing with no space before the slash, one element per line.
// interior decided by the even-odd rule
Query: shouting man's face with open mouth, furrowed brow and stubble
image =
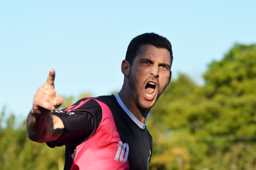
<path fill-rule="evenodd" d="M 153 45 L 140 47 L 129 71 L 129 90 L 140 110 L 151 109 L 170 77 L 170 52 Z"/>

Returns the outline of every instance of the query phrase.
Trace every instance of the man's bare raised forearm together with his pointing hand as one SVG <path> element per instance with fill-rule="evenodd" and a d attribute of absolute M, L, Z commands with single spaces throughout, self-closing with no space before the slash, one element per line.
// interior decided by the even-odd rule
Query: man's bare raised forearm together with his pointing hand
<path fill-rule="evenodd" d="M 33 109 L 27 117 L 27 135 L 30 140 L 40 143 L 57 140 L 64 132 L 62 120 L 50 113 L 63 103 L 63 98 L 54 88 L 54 78 L 55 71 L 51 69 L 45 84 L 37 89 Z"/>

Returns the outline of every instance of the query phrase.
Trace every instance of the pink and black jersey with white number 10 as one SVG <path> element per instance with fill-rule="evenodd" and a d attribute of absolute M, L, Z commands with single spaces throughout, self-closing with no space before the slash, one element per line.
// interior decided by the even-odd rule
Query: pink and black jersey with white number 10
<path fill-rule="evenodd" d="M 85 98 L 53 113 L 64 133 L 49 147 L 66 146 L 64 170 L 147 170 L 152 137 L 118 94 Z"/>

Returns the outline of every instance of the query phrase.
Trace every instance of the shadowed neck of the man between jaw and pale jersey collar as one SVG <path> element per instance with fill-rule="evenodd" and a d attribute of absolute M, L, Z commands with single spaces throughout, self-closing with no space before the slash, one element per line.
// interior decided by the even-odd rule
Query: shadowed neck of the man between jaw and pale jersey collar
<path fill-rule="evenodd" d="M 127 107 L 128 110 L 143 124 L 146 121 L 147 115 L 150 112 L 150 109 L 148 110 L 142 110 L 139 109 L 136 103 L 134 102 L 131 92 L 127 87 L 125 87 L 125 84 L 123 85 L 121 91 L 118 93 L 119 97 L 123 101 L 124 105 Z"/>

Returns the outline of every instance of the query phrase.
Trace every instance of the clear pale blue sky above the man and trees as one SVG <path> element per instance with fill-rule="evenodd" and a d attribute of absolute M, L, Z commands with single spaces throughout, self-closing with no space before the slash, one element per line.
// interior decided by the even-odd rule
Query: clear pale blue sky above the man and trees
<path fill-rule="evenodd" d="M 203 84 L 207 64 L 234 43 L 256 43 L 256 1 L 0 1 L 0 109 L 25 119 L 56 70 L 56 91 L 108 95 L 123 84 L 133 37 L 163 35 L 178 72 Z"/>

